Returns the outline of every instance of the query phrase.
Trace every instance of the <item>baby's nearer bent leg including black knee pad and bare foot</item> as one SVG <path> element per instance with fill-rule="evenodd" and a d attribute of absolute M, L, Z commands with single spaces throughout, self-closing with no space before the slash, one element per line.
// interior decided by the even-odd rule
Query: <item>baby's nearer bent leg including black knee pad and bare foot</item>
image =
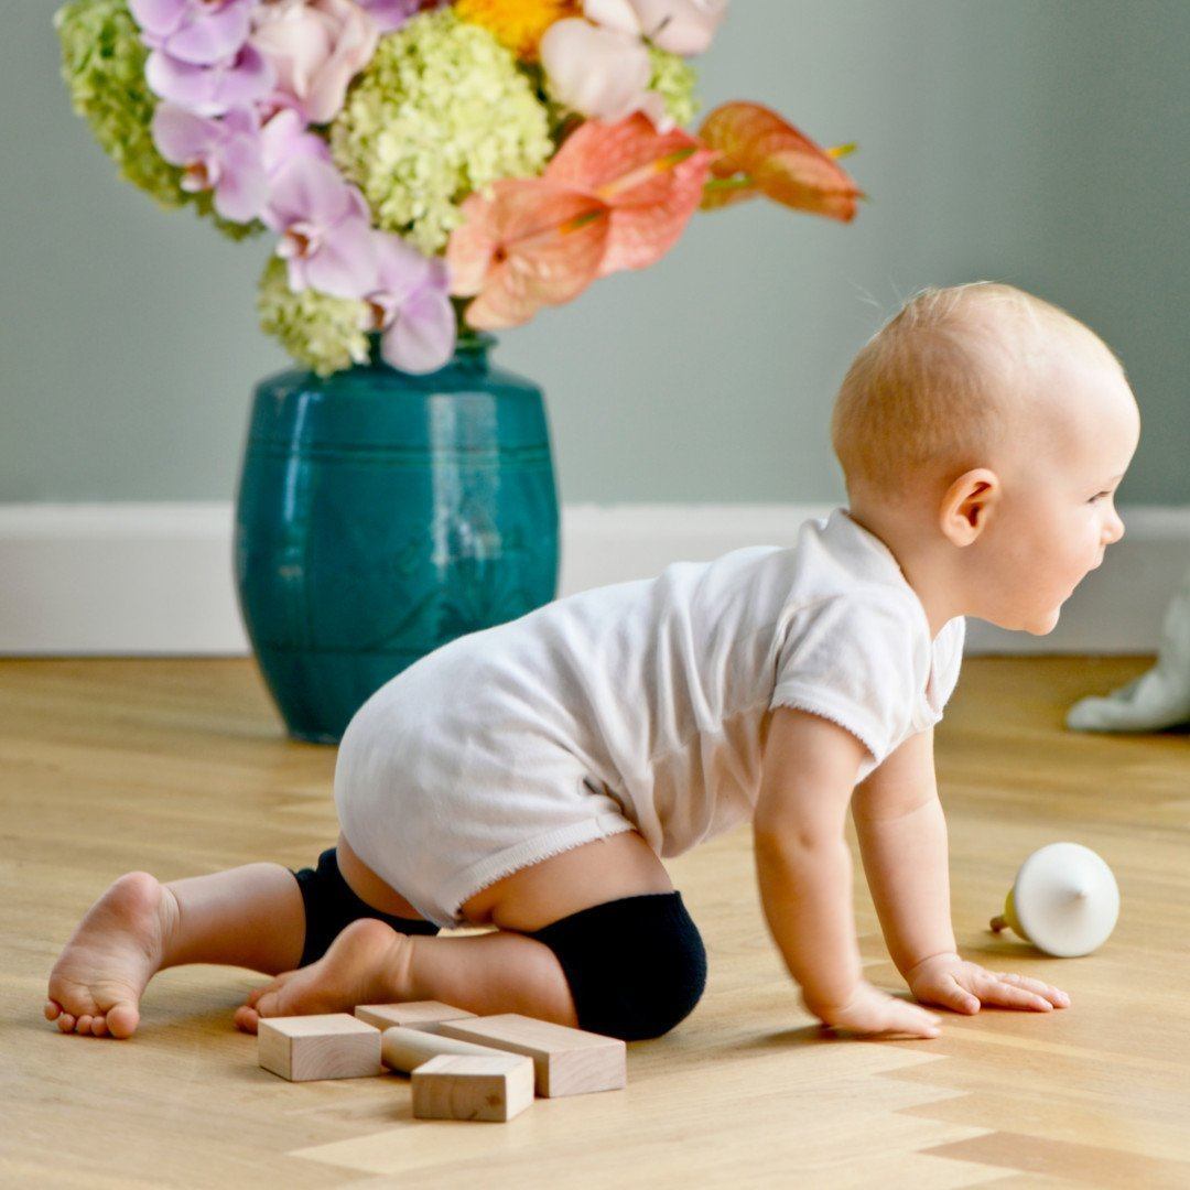
<path fill-rule="evenodd" d="M 672 1027 L 702 992 L 701 939 L 664 866 L 635 832 L 522 869 L 468 901 L 464 914 L 506 928 L 411 938 L 378 921 L 357 921 L 320 962 L 253 992 L 236 1023 L 255 1032 L 259 1016 L 440 1000 L 478 1015 L 522 1013 L 591 1027 L 603 1003 L 616 1001 L 620 1020 L 613 1026 L 603 1017 L 609 1025 L 597 1031 L 627 1035 L 639 1025 L 639 1035 L 652 1036 Z M 632 1017 L 627 1025 L 625 1015 Z"/>

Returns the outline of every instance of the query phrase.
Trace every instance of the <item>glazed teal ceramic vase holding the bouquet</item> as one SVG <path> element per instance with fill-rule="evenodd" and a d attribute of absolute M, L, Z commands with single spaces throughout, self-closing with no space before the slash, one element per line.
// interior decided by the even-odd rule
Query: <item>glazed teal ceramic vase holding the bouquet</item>
<path fill-rule="evenodd" d="M 236 583 L 290 735 L 333 744 L 440 645 L 557 594 L 558 500 L 541 390 L 491 336 L 426 376 L 380 361 L 255 392 Z M 459 691 L 461 696 L 464 691 Z"/>

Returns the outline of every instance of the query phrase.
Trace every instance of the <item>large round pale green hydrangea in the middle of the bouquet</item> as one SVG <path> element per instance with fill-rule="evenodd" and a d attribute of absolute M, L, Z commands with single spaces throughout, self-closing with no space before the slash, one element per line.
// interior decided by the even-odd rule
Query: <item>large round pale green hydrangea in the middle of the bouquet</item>
<path fill-rule="evenodd" d="M 545 106 L 513 55 L 451 8 L 382 37 L 330 127 L 331 152 L 377 226 L 437 252 L 459 205 L 553 152 Z"/>

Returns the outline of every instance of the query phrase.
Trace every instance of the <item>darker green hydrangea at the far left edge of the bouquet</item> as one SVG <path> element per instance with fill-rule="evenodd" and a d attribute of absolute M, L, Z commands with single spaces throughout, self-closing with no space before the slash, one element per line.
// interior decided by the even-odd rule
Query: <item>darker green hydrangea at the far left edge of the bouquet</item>
<path fill-rule="evenodd" d="M 54 27 L 62 43 L 62 77 L 71 106 L 90 125 L 121 177 L 168 209 L 193 202 L 199 214 L 209 215 L 233 239 L 263 231 L 259 223 L 219 218 L 213 195 L 183 190 L 182 170 L 157 152 L 151 132 L 157 99 L 145 82 L 149 51 L 125 0 L 71 0 L 54 14 Z"/>

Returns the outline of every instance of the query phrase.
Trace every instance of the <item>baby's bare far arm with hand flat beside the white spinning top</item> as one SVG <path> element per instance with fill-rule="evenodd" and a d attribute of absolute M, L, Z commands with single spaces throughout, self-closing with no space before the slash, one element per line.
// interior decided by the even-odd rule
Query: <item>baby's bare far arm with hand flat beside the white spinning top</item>
<path fill-rule="evenodd" d="M 933 728 L 912 735 L 856 788 L 851 813 L 884 940 L 917 1000 L 959 1013 L 977 1013 L 981 1003 L 1038 1012 L 1070 1003 L 1040 979 L 994 973 L 958 956 Z"/>

